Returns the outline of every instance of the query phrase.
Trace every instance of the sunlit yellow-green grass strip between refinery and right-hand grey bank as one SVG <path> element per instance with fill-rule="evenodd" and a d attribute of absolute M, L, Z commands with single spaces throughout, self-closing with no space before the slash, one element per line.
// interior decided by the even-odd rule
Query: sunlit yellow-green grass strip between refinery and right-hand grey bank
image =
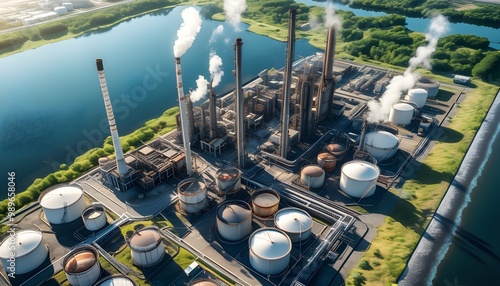
<path fill-rule="evenodd" d="M 406 199 L 400 199 L 377 227 L 377 236 L 351 271 L 347 285 L 390 285 L 405 268 L 498 89 L 479 81 L 473 83 L 477 87 L 471 89 L 417 174 L 403 185 Z M 390 191 L 398 195 L 396 190 Z"/>

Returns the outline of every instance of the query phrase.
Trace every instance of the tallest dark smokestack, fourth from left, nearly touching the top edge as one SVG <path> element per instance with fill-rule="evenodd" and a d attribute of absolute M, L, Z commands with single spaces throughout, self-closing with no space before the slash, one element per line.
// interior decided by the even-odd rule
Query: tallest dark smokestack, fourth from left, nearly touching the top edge
<path fill-rule="evenodd" d="M 292 8 L 288 11 L 288 43 L 285 63 L 285 79 L 283 87 L 283 101 L 281 108 L 281 138 L 280 138 L 280 155 L 284 159 L 288 153 L 288 122 L 290 121 L 290 86 L 292 83 L 292 64 L 295 49 L 295 15 L 297 9 Z"/>

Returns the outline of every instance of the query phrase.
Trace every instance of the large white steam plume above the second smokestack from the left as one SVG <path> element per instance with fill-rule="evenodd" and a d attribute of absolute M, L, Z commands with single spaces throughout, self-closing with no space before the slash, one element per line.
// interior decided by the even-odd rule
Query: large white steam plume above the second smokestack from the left
<path fill-rule="evenodd" d="M 174 44 L 174 56 L 181 57 L 192 45 L 201 29 L 200 12 L 188 7 L 181 12 L 182 24 L 177 31 L 177 40 Z"/>

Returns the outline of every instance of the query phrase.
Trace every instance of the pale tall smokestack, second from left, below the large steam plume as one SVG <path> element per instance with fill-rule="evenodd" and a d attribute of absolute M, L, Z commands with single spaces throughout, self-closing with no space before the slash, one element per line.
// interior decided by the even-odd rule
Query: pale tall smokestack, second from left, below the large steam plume
<path fill-rule="evenodd" d="M 175 73 L 177 75 L 177 94 L 179 95 L 179 109 L 181 113 L 182 141 L 184 142 L 184 153 L 186 154 L 186 170 L 189 176 L 193 174 L 193 162 L 191 161 L 191 146 L 189 144 L 189 127 L 186 114 L 186 97 L 182 86 L 181 58 L 175 58 Z"/>

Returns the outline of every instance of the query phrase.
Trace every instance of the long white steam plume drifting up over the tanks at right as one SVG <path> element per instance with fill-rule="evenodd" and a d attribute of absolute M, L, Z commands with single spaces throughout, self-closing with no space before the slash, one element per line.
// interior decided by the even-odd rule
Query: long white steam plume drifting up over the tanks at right
<path fill-rule="evenodd" d="M 417 48 L 415 56 L 410 59 L 409 66 L 403 75 L 395 76 L 387 86 L 384 94 L 379 101 L 371 100 L 368 102 L 367 120 L 369 122 L 382 122 L 387 120 L 392 106 L 401 99 L 404 91 L 411 89 L 419 79 L 418 73 L 414 72 L 415 68 L 424 66 L 431 69 L 430 59 L 440 37 L 442 37 L 449 29 L 449 22 L 443 15 L 434 16 L 431 24 L 425 35 L 428 41 L 426 46 Z"/>

